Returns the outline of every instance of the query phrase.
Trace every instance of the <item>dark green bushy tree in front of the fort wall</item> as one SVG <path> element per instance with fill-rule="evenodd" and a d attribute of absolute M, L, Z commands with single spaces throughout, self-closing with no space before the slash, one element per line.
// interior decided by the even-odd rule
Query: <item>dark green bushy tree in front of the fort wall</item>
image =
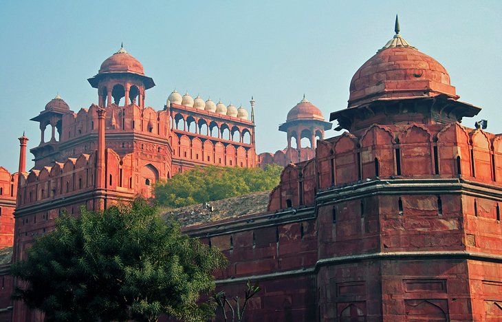
<path fill-rule="evenodd" d="M 81 215 L 63 214 L 12 266 L 27 281 L 14 299 L 45 312 L 47 321 L 157 321 L 166 313 L 206 321 L 214 313 L 199 294 L 215 288 L 212 273 L 226 258 L 182 235 L 144 200 Z"/>

